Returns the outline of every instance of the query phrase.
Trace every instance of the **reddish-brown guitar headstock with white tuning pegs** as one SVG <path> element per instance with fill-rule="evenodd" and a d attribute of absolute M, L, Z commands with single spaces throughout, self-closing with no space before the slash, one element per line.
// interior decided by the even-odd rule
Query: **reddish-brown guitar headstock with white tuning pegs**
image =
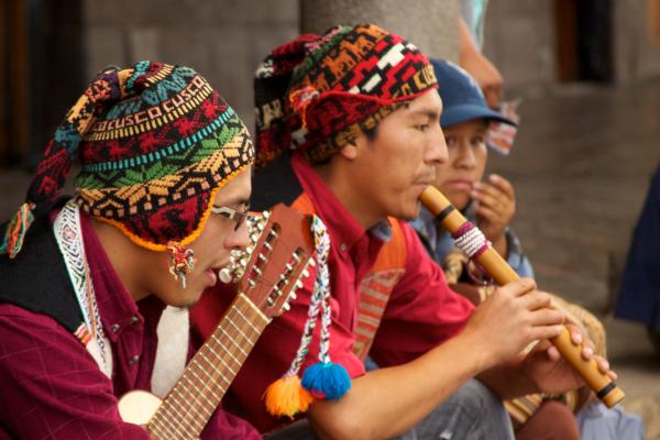
<path fill-rule="evenodd" d="M 248 217 L 251 245 L 232 251 L 221 271 L 223 283 L 238 279 L 243 293 L 268 318 L 289 309 L 296 290 L 314 265 L 314 239 L 309 222 L 297 210 L 276 205 L 263 215 Z"/>

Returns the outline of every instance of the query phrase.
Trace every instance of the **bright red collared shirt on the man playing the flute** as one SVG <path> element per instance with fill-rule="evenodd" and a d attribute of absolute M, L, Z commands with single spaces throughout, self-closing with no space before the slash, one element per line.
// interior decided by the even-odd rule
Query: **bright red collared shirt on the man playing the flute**
<path fill-rule="evenodd" d="M 356 377 L 364 374 L 363 361 L 352 350 L 360 283 L 374 265 L 384 242 L 373 231 L 360 226 L 307 163 L 294 158 L 293 166 L 302 189 L 330 233 L 330 356 L 332 362 L 342 364 L 351 377 Z M 382 366 L 409 362 L 442 343 L 464 327 L 473 310 L 470 301 L 449 289 L 442 271 L 428 256 L 415 231 L 403 221 L 400 227 L 407 249 L 405 274 L 391 294 L 370 352 Z M 295 356 L 307 319 L 312 286 L 314 274 L 298 292 L 292 309 L 266 327 L 226 399 L 228 409 L 235 410 L 262 432 L 287 422 L 266 413 L 262 396 L 265 388 L 288 370 Z M 217 286 L 215 292 L 207 292 L 200 307 L 194 309 L 194 326 L 202 334 L 210 330 L 208 317 L 215 316 L 217 322 L 217 317 L 230 304 L 230 297 L 218 295 L 221 288 Z M 218 307 L 218 302 L 221 304 L 220 310 L 212 309 Z M 319 332 L 320 324 L 317 324 L 301 372 L 318 362 Z"/>

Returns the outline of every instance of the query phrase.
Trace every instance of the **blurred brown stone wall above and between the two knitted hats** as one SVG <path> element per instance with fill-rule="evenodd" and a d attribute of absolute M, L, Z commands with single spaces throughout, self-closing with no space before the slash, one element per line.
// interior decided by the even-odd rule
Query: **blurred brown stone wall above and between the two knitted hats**
<path fill-rule="evenodd" d="M 157 59 L 194 67 L 252 128 L 252 79 L 298 34 L 298 0 L 85 0 L 87 77 L 108 64 Z"/>

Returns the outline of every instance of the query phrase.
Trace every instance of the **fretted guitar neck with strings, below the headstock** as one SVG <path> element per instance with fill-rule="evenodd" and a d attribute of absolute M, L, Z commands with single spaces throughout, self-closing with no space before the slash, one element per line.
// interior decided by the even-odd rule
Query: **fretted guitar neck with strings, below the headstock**
<path fill-rule="evenodd" d="M 147 430 L 156 439 L 197 439 L 271 320 L 239 294 L 190 360 Z"/>

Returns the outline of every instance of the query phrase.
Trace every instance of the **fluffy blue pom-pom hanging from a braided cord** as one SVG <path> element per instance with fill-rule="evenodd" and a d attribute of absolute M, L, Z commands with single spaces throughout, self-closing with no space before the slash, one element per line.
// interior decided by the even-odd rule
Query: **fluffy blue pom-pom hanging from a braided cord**
<path fill-rule="evenodd" d="M 340 364 L 319 362 L 305 370 L 301 384 L 317 398 L 337 400 L 351 389 L 351 377 Z"/>

